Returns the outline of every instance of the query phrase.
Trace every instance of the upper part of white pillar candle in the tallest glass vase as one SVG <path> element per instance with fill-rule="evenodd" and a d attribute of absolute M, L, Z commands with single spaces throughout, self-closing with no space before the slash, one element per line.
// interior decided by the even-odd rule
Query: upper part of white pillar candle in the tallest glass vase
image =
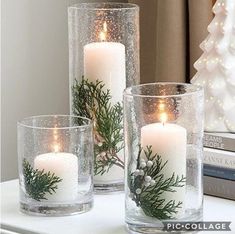
<path fill-rule="evenodd" d="M 122 102 L 126 88 L 125 46 L 118 42 L 94 42 L 84 47 L 84 77 L 103 81 L 112 103 Z"/>

